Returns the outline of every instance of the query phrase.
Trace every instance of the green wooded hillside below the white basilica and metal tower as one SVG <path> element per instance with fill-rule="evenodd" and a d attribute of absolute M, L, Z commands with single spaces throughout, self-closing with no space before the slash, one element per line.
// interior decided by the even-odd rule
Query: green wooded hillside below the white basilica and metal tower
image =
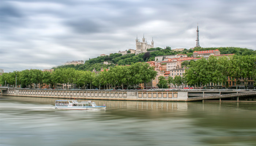
<path fill-rule="evenodd" d="M 247 48 L 240 48 L 240 47 L 210 47 L 210 48 L 203 48 L 203 47 L 195 47 L 194 49 L 184 49 L 184 51 L 173 51 L 170 47 L 166 46 L 166 49 L 162 48 L 151 48 L 148 50 L 147 53 L 142 54 L 110 54 L 108 56 L 99 56 L 96 58 L 92 58 L 86 60 L 84 64 L 81 65 L 61 65 L 57 68 L 75 68 L 76 70 L 89 70 L 92 71 L 94 68 L 96 71 L 100 71 L 101 68 L 107 69 L 109 67 L 113 67 L 116 64 L 118 65 L 130 65 L 131 63 L 136 62 L 147 62 L 147 61 L 154 61 L 156 56 L 162 55 L 174 55 L 174 54 L 187 54 L 188 56 L 193 55 L 193 51 L 206 51 L 206 50 L 216 50 L 218 49 L 221 54 L 237 54 L 237 55 L 256 55 L 256 51 Z M 104 61 L 107 61 L 109 65 L 103 64 Z M 56 68 L 53 68 L 56 69 Z"/>

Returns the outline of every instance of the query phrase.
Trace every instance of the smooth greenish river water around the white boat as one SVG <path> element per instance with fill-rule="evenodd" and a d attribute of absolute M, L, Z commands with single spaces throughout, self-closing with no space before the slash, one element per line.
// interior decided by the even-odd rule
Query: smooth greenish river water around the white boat
<path fill-rule="evenodd" d="M 72 111 L 54 100 L 0 96 L 0 145 L 256 145 L 256 103 L 93 100 L 106 110 Z"/>

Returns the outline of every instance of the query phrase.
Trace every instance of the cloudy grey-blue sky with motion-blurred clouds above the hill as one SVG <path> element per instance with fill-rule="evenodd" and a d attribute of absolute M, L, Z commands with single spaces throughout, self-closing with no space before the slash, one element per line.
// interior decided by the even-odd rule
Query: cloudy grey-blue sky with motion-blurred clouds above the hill
<path fill-rule="evenodd" d="M 255 0 L 1 0 L 0 69 L 50 69 L 135 48 L 256 50 Z"/>

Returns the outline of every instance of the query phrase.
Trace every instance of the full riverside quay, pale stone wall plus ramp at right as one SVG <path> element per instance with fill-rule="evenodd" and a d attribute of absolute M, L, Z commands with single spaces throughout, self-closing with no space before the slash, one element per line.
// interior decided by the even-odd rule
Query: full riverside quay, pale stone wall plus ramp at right
<path fill-rule="evenodd" d="M 6 96 L 50 97 L 66 99 L 143 100 L 143 101 L 203 101 L 242 96 L 256 96 L 255 90 L 153 89 L 153 90 L 93 90 L 93 89 L 25 89 L 0 87 Z"/>

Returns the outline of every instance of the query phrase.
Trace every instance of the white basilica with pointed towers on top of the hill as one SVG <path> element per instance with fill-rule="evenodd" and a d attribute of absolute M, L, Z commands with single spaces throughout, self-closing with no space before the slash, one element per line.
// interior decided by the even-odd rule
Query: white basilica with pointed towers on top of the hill
<path fill-rule="evenodd" d="M 152 41 L 151 41 L 151 45 L 149 45 L 149 44 L 147 44 L 147 41 L 144 38 L 144 35 L 143 35 L 142 42 L 139 41 L 138 37 L 136 38 L 135 41 L 136 41 L 135 55 L 140 54 L 140 53 L 145 53 L 145 52 L 147 52 L 147 49 L 150 49 L 150 48 L 154 47 L 153 38 L 152 38 Z"/>

